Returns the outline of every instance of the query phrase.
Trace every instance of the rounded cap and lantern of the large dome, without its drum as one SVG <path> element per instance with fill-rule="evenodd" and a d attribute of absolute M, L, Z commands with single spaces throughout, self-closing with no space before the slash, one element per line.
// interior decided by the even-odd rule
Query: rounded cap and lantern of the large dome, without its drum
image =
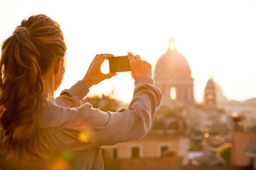
<path fill-rule="evenodd" d="M 191 77 L 191 69 L 188 61 L 176 49 L 175 40 L 171 38 L 169 48 L 156 62 L 154 76 L 161 77 Z"/>

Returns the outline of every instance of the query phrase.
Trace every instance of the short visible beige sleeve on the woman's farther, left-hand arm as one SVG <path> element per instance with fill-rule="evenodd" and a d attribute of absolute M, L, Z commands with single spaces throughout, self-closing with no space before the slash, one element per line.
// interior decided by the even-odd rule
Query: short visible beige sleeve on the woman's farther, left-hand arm
<path fill-rule="evenodd" d="M 75 108 L 80 107 L 82 99 L 88 94 L 89 88 L 87 85 L 78 81 L 75 85 L 73 85 L 70 89 L 65 89 L 61 91 L 60 96 L 55 98 L 58 106 Z"/>

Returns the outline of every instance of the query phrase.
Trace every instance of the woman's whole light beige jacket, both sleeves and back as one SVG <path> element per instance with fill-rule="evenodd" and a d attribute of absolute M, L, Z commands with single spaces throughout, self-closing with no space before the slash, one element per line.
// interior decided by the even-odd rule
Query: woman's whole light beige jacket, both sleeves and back
<path fill-rule="evenodd" d="M 53 169 L 58 164 L 78 170 L 104 169 L 100 147 L 142 138 L 149 131 L 161 102 L 161 92 L 152 79 L 140 77 L 134 84 L 129 107 L 116 113 L 102 112 L 90 103 L 80 106 L 89 92 L 82 81 L 62 91 L 58 98 L 48 98 L 46 107 L 38 113 L 34 151 L 40 159 L 24 153 L 18 158 L 23 162 L 23 169 Z M 0 162 L 0 169 L 6 166 L 3 164 Z"/>

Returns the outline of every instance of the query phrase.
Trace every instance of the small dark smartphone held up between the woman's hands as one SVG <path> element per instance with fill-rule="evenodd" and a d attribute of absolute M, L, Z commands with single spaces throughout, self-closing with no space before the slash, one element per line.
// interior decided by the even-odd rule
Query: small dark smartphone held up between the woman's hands
<path fill-rule="evenodd" d="M 132 71 L 127 55 L 109 58 L 110 72 L 130 72 Z"/>

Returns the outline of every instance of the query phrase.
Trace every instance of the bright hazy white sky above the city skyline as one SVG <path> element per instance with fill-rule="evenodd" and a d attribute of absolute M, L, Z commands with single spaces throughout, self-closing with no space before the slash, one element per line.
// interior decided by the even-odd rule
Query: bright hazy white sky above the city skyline
<path fill-rule="evenodd" d="M 256 1 L 58 1 L 0 0 L 0 42 L 23 18 L 44 13 L 60 23 L 68 45 L 66 73 L 56 91 L 81 79 L 98 53 L 131 51 L 154 66 L 174 36 L 190 64 L 196 101 L 210 77 L 228 99 L 256 97 Z M 107 63 L 102 68 L 107 72 Z M 90 94 L 110 94 L 129 102 L 130 73 L 92 86 Z"/>

